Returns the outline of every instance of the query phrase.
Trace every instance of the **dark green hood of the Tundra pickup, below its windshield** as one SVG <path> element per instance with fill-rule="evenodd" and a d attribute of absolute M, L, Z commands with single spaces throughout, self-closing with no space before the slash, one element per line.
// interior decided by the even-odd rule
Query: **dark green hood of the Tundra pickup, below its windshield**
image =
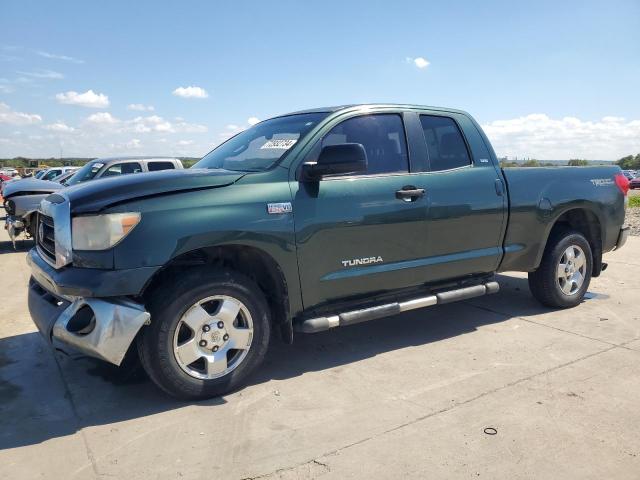
<path fill-rule="evenodd" d="M 231 185 L 245 172 L 206 168 L 133 173 L 91 180 L 64 189 L 73 213 L 93 213 L 128 200 Z"/>

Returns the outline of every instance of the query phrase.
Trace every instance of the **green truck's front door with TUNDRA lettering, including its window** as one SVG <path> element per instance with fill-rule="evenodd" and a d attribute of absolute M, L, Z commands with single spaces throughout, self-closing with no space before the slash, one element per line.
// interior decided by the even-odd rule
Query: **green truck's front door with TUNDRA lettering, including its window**
<path fill-rule="evenodd" d="M 368 114 L 336 125 L 313 149 L 360 143 L 364 174 L 292 182 L 298 264 L 306 309 L 337 299 L 423 283 L 427 208 L 411 173 L 400 114 Z M 312 152 L 312 153 L 313 153 Z M 415 196 L 403 194 L 414 190 Z M 401 193 L 398 193 L 401 192 Z"/>

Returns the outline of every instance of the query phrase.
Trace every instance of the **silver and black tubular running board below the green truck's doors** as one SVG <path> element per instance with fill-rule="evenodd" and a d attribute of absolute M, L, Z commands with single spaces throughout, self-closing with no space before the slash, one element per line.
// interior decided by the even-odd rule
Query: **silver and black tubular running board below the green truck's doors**
<path fill-rule="evenodd" d="M 404 302 L 393 302 L 375 307 L 364 308 L 362 310 L 352 310 L 330 317 L 317 317 L 304 320 L 303 322 L 294 324 L 294 330 L 302 333 L 316 333 L 323 330 L 329 330 L 335 327 L 344 327 L 346 325 L 354 325 L 360 322 L 368 322 L 377 318 L 396 315 L 409 310 L 418 308 L 431 307 L 432 305 L 442 305 L 445 303 L 457 302 L 468 298 L 481 297 L 490 293 L 496 293 L 500 290 L 498 282 L 487 282 L 482 285 L 474 285 L 473 287 L 458 288 L 446 292 L 436 293 L 428 297 L 414 298 Z"/>

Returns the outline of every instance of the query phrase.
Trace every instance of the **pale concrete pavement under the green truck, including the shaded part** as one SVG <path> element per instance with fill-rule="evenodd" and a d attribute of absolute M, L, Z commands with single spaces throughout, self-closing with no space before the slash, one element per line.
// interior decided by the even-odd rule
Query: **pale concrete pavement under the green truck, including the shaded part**
<path fill-rule="evenodd" d="M 245 389 L 183 403 L 54 355 L 0 235 L 0 478 L 640 477 L 640 237 L 575 309 L 501 275 L 497 295 L 276 344 Z"/>

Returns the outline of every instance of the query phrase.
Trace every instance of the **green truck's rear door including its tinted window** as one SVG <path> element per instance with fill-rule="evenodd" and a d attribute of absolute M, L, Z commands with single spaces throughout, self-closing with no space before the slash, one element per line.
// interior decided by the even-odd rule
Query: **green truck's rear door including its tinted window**
<path fill-rule="evenodd" d="M 494 271 L 502 258 L 506 193 L 477 127 L 448 112 L 407 115 L 407 122 L 428 207 L 425 281 Z"/>

